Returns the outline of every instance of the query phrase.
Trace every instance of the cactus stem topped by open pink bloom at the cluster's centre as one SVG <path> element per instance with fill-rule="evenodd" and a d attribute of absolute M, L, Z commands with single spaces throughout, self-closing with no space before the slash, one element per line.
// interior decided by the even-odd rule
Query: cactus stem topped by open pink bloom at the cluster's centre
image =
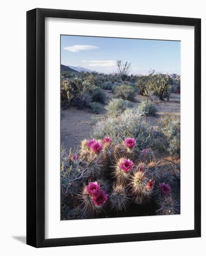
<path fill-rule="evenodd" d="M 117 182 L 126 182 L 129 178 L 130 173 L 133 169 L 133 161 L 126 158 L 120 158 L 114 167 L 113 176 L 116 178 Z"/>

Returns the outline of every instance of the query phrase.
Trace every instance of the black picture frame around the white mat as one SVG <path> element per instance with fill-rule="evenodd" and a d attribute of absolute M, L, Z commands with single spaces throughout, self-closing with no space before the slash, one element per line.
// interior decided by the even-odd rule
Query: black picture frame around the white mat
<path fill-rule="evenodd" d="M 140 22 L 194 27 L 194 229 L 45 239 L 45 18 Z M 201 236 L 201 20 L 56 9 L 27 12 L 27 244 L 53 247 Z"/>

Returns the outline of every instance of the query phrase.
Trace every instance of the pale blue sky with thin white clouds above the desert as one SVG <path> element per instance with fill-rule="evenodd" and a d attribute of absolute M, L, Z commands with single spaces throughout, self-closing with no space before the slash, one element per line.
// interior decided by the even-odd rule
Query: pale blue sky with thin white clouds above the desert
<path fill-rule="evenodd" d="M 117 72 L 116 61 L 131 62 L 130 74 L 180 74 L 180 42 L 61 35 L 61 64 Z"/>

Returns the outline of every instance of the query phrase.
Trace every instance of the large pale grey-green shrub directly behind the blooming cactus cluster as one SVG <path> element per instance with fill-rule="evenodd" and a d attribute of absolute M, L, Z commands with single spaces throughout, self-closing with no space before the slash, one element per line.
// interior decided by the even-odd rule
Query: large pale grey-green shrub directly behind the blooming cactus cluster
<path fill-rule="evenodd" d="M 113 141 L 120 142 L 126 137 L 134 137 L 139 148 L 153 146 L 152 133 L 152 128 L 144 119 L 144 113 L 136 108 L 127 108 L 117 117 L 97 122 L 93 128 L 93 136 L 97 139 L 110 136 Z"/>

